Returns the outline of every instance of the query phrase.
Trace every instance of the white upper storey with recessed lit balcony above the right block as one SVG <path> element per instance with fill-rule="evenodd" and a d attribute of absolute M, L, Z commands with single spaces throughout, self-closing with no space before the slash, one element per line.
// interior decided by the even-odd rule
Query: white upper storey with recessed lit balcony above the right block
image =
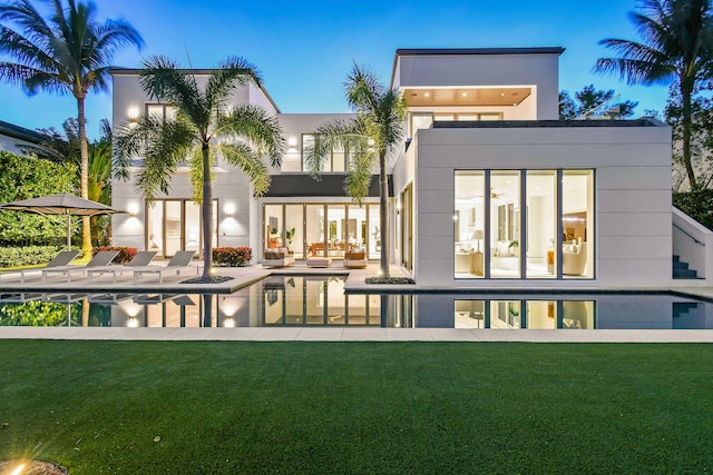
<path fill-rule="evenodd" d="M 556 120 L 563 48 L 399 49 L 407 136 L 434 121 Z"/>

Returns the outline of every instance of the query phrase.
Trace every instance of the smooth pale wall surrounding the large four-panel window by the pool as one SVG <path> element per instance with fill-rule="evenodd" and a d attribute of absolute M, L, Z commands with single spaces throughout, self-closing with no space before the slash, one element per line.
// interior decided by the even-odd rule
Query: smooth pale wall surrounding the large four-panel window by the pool
<path fill-rule="evenodd" d="M 455 170 L 592 168 L 596 279 L 557 285 L 671 286 L 668 127 L 427 129 L 418 132 L 413 146 L 419 285 L 551 287 L 551 280 L 453 278 Z"/>

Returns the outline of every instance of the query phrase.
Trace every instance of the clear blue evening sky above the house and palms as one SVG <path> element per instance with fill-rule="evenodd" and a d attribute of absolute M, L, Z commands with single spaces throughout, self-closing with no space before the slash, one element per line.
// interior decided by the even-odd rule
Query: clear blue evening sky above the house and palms
<path fill-rule="evenodd" d="M 184 66 L 214 67 L 242 56 L 262 72 L 283 112 L 346 112 L 343 82 L 352 56 L 383 82 L 398 48 L 564 47 L 559 89 L 570 93 L 594 83 L 637 100 L 637 115 L 663 110 L 667 88 L 627 87 L 617 77 L 592 72 L 604 38 L 637 39 L 628 20 L 636 0 L 446 0 L 431 1 L 189 1 L 96 0 L 99 18 L 124 18 L 146 42 L 115 65 L 140 67 L 141 58 L 172 57 Z M 71 97 L 28 98 L 0 85 L 0 120 L 29 129 L 59 127 L 76 116 Z M 87 100 L 88 132 L 110 118 L 109 93 Z"/>

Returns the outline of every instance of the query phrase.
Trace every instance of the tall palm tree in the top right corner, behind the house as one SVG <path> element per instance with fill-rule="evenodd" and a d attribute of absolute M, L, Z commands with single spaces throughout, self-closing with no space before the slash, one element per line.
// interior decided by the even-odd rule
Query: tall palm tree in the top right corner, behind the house
<path fill-rule="evenodd" d="M 599 41 L 619 58 L 600 58 L 595 70 L 618 72 L 629 85 L 676 81 L 683 99 L 683 162 L 692 189 L 699 187 L 691 165 L 691 97 L 711 73 L 713 26 L 710 0 L 642 0 L 631 19 L 643 42 Z"/>

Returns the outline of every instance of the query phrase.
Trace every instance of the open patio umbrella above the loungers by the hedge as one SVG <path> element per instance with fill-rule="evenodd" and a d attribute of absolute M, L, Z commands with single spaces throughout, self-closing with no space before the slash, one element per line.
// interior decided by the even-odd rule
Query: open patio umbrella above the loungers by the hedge
<path fill-rule="evenodd" d="M 66 215 L 67 216 L 67 249 L 71 247 L 71 217 L 97 216 L 125 212 L 97 201 L 80 198 L 75 195 L 59 194 L 23 199 L 21 201 L 0 205 L 0 210 L 36 212 L 38 215 Z"/>

